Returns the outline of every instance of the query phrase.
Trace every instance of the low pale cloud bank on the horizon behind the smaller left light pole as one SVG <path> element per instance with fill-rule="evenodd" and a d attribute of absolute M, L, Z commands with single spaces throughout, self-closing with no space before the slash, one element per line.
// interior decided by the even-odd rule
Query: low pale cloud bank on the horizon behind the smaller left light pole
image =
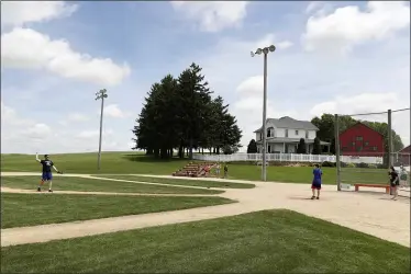
<path fill-rule="evenodd" d="M 103 128 L 103 151 L 126 151 L 133 147 L 130 136 L 115 135 Z M 19 115 L 1 101 L 1 152 L 2 153 L 62 153 L 98 151 L 99 129 L 78 132 L 49 126 Z"/>

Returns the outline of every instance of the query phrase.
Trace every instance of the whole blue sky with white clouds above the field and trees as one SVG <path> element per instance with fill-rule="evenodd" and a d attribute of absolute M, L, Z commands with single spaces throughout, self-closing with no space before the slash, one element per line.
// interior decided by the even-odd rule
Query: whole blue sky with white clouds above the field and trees
<path fill-rule="evenodd" d="M 243 145 L 268 116 L 410 106 L 408 2 L 2 2 L 2 152 L 129 150 L 149 87 L 192 61 L 230 103 Z M 34 11 L 34 12 L 33 12 Z M 369 117 L 386 121 L 384 115 Z M 409 112 L 393 126 L 410 141 Z"/>

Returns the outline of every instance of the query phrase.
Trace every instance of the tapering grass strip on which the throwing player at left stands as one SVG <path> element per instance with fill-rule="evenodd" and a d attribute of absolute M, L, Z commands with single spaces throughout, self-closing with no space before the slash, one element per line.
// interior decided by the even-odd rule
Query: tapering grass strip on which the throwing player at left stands
<path fill-rule="evenodd" d="M 1 186 L 22 190 L 36 190 L 38 176 L 2 176 Z M 45 183 L 43 189 L 47 190 Z M 151 194 L 219 194 L 222 191 L 152 185 L 131 182 L 116 182 L 98 179 L 59 176 L 53 180 L 54 191 L 118 192 Z"/>

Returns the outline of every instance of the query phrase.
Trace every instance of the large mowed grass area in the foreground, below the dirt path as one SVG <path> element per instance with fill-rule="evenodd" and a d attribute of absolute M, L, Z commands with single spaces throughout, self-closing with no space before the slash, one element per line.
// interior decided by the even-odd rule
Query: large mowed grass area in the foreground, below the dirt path
<path fill-rule="evenodd" d="M 7 247 L 1 272 L 410 273 L 410 249 L 298 213 L 266 210 Z"/>

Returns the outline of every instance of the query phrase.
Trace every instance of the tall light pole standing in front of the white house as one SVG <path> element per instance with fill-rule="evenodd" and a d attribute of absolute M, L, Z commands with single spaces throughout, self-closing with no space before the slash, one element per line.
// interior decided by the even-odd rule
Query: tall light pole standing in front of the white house
<path fill-rule="evenodd" d="M 256 52 L 252 52 L 252 57 L 255 55 L 264 54 L 264 96 L 263 96 L 263 171 L 262 180 L 267 181 L 267 55 L 276 50 L 275 45 L 270 45 L 265 48 L 257 48 Z"/>

